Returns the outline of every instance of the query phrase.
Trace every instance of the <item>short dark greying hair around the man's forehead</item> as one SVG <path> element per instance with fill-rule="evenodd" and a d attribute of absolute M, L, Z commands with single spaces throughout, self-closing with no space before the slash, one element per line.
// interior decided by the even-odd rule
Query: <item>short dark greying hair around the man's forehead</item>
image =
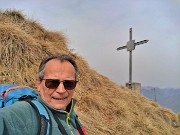
<path fill-rule="evenodd" d="M 53 60 L 53 59 L 57 59 L 61 62 L 64 62 L 64 61 L 70 62 L 75 69 L 75 80 L 77 80 L 78 67 L 77 67 L 76 62 L 73 60 L 73 58 L 67 54 L 53 54 L 53 55 L 47 56 L 44 60 L 42 60 L 41 64 L 39 65 L 39 70 L 38 70 L 38 74 L 37 74 L 37 79 L 39 81 L 42 81 L 42 79 L 44 78 L 44 71 L 45 71 L 46 63 L 50 60 Z"/>

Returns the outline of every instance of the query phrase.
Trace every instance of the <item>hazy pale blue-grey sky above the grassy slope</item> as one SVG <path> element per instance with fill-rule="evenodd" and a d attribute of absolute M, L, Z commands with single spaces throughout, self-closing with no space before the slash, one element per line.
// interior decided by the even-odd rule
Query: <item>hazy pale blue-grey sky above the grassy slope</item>
<path fill-rule="evenodd" d="M 119 85 L 129 81 L 129 41 L 149 40 L 132 51 L 132 82 L 180 88 L 179 0 L 0 0 L 49 31 L 65 34 L 69 49 Z"/>

